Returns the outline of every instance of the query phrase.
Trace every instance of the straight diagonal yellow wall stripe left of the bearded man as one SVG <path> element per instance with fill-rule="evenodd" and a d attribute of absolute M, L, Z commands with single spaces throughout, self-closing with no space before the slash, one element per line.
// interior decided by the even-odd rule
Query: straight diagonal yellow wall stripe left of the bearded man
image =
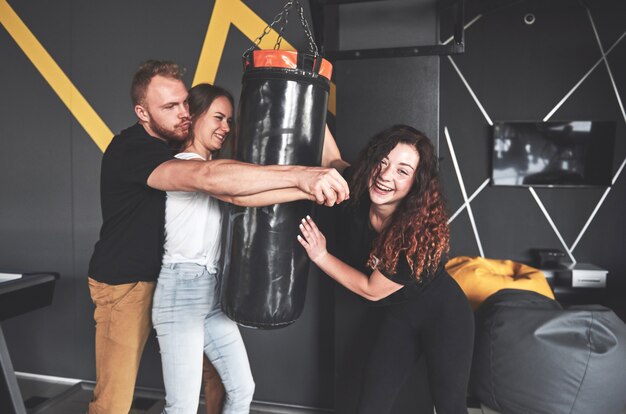
<path fill-rule="evenodd" d="M 113 133 L 6 0 L 0 0 L 0 23 L 61 98 L 78 123 L 100 150 L 104 151 L 111 142 Z"/>

